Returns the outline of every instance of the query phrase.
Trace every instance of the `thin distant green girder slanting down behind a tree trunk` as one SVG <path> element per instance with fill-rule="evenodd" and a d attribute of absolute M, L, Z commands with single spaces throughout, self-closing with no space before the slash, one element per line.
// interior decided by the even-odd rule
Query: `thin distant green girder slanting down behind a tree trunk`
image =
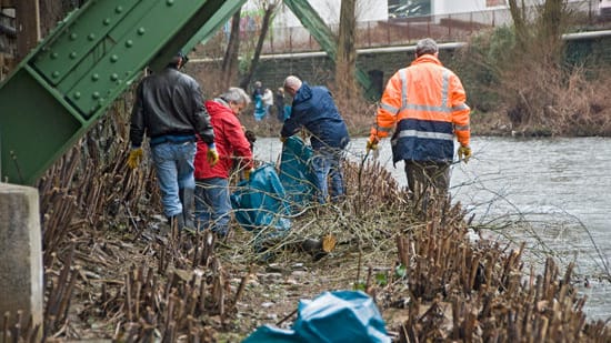
<path fill-rule="evenodd" d="M 335 61 L 338 56 L 338 42 L 333 31 L 324 23 L 318 12 L 303 0 L 283 0 L 284 4 L 296 14 L 301 21 L 301 24 L 313 36 L 322 50 L 327 52 L 332 61 Z M 369 78 L 369 74 L 357 65 L 354 70 L 354 77 L 364 90 L 364 94 L 368 99 L 378 100 L 375 89 L 373 89 L 373 82 Z"/>

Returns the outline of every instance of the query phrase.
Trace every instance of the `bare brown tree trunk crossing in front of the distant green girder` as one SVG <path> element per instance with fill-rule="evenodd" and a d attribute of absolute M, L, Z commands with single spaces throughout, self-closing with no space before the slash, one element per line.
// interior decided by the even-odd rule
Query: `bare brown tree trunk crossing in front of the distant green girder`
<path fill-rule="evenodd" d="M 340 10 L 340 32 L 335 60 L 335 85 L 339 97 L 350 100 L 357 94 L 354 70 L 357 68 L 355 27 L 357 0 L 342 0 Z"/>

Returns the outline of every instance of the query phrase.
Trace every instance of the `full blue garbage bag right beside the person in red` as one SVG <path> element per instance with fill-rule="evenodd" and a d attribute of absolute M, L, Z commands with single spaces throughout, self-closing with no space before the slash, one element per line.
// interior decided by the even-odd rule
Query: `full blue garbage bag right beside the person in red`
<path fill-rule="evenodd" d="M 238 223 L 261 234 L 261 239 L 283 235 L 291 228 L 287 194 L 271 164 L 253 170 L 230 198 Z"/>

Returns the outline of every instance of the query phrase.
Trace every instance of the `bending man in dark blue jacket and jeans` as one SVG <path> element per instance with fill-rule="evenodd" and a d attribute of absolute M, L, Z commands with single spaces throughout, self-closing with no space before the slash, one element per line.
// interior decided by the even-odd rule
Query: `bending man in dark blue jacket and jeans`
<path fill-rule="evenodd" d="M 341 164 L 350 137 L 331 92 L 322 85 L 310 87 L 294 75 L 284 80 L 284 91 L 293 98 L 293 102 L 291 115 L 280 132 L 281 140 L 284 141 L 301 128 L 310 132 L 318 201 L 325 203 L 329 195 L 331 201 L 338 201 L 345 194 Z"/>

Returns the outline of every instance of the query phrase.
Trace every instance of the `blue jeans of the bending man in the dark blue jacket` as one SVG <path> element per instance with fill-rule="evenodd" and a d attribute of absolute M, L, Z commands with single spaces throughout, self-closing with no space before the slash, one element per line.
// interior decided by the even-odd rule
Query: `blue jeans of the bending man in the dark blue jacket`
<path fill-rule="evenodd" d="M 318 201 L 325 203 L 331 195 L 331 201 L 337 201 L 345 194 L 343 185 L 343 172 L 341 168 L 343 151 L 339 149 L 319 149 L 312 155 L 312 169 L 317 176 Z M 328 180 L 331 185 L 328 185 Z"/>

